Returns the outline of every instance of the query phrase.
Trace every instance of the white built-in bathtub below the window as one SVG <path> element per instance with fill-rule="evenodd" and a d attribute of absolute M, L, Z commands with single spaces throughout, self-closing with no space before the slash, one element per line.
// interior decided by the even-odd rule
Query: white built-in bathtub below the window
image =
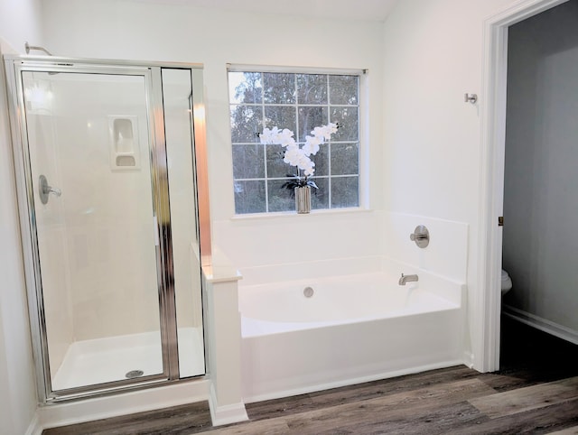
<path fill-rule="evenodd" d="M 245 402 L 461 364 L 465 286 L 418 274 L 241 281 Z"/>

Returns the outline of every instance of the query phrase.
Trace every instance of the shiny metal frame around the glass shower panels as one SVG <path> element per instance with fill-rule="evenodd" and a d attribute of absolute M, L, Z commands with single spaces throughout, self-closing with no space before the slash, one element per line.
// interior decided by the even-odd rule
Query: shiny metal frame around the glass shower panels
<path fill-rule="evenodd" d="M 201 264 L 210 261 L 210 228 L 208 221 L 208 177 L 206 171 L 206 141 L 204 102 L 202 95 L 202 65 L 167 62 L 133 62 L 123 60 L 92 60 L 73 59 L 45 56 L 5 56 L 6 80 L 10 106 L 10 121 L 13 139 L 14 174 L 18 197 L 18 211 L 20 216 L 21 238 L 23 246 L 24 279 L 26 282 L 28 309 L 30 316 L 31 338 L 35 373 L 37 378 L 37 392 L 43 404 L 59 403 L 71 399 L 94 397 L 97 395 L 117 393 L 121 391 L 142 389 L 155 385 L 186 381 L 180 379 L 177 351 L 177 325 L 175 310 L 174 289 L 168 285 L 167 264 L 169 262 L 172 243 L 171 236 L 163 234 L 161 222 L 169 222 L 170 216 L 161 219 L 157 213 L 160 207 L 161 192 L 156 182 L 160 173 L 159 158 L 166 155 L 164 134 L 164 111 L 161 71 L 166 69 L 189 69 L 191 71 L 192 86 L 192 129 L 193 162 L 197 182 L 198 195 L 198 232 L 200 233 Z M 50 71 L 69 72 L 79 74 L 107 74 L 130 75 L 144 78 L 146 93 L 146 112 L 148 120 L 148 147 L 150 153 L 151 189 L 153 196 L 154 216 L 157 217 L 158 245 L 155 245 L 157 288 L 159 289 L 160 332 L 163 353 L 163 373 L 147 375 L 133 379 L 117 380 L 105 384 L 89 384 L 66 390 L 53 391 L 51 387 L 51 373 L 49 364 L 49 349 L 44 308 L 42 300 L 42 274 L 40 255 L 38 250 L 37 225 L 35 220 L 35 206 L 33 197 L 33 174 L 31 169 L 30 149 L 26 124 L 26 111 L 23 96 L 23 71 Z M 197 112 L 195 112 L 197 108 Z M 159 116 L 161 114 L 161 116 Z M 165 158 L 165 157 L 164 157 Z M 166 164 L 166 162 L 165 162 Z M 169 195 L 168 187 L 163 192 Z M 170 213 L 169 213 L 170 214 Z M 203 227 L 205 226 L 205 227 Z M 172 232 L 169 232 L 172 234 Z M 200 285 L 202 283 L 200 282 Z M 204 292 L 201 288 L 201 295 Z M 204 296 L 202 296 L 204 298 Z M 206 343 L 204 344 L 205 366 L 207 360 Z M 204 375 L 196 376 L 196 378 Z"/>

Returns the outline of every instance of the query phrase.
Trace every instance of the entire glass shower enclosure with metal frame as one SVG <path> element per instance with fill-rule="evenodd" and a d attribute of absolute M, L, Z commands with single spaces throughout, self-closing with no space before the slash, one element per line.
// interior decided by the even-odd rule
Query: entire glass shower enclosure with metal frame
<path fill-rule="evenodd" d="M 5 66 L 40 396 L 204 375 L 202 69 L 51 57 Z"/>

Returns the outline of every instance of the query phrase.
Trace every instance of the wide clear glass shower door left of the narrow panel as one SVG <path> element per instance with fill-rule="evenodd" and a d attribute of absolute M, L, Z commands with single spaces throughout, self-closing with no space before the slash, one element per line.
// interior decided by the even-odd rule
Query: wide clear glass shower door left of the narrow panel
<path fill-rule="evenodd" d="M 20 77 L 46 395 L 166 380 L 171 241 L 151 71 Z"/>

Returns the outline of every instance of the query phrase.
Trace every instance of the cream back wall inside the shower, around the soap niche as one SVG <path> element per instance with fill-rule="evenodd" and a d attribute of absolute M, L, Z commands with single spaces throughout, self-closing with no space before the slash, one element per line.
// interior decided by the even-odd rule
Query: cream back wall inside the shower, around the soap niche
<path fill-rule="evenodd" d="M 57 112 L 76 340 L 159 328 L 144 88 L 117 80 L 117 88 L 97 82 L 90 93 L 82 81 L 69 85 Z M 70 104 L 78 99 L 79 106 Z M 110 116 L 135 116 L 136 169 L 112 164 Z"/>

